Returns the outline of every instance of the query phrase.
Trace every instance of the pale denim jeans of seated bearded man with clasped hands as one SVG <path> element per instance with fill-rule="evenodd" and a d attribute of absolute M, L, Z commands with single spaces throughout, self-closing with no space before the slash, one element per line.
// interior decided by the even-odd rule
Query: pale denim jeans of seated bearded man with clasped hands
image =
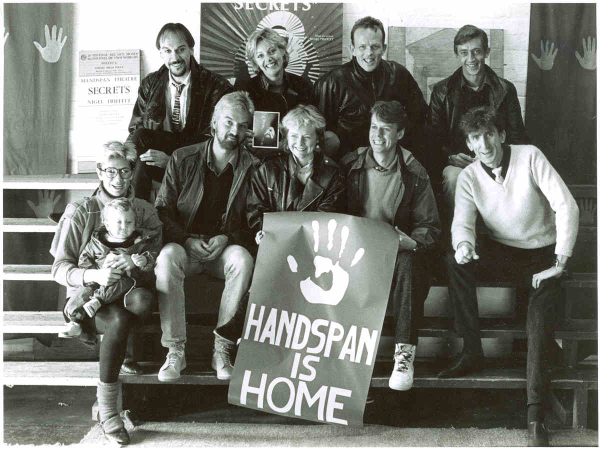
<path fill-rule="evenodd" d="M 239 245 L 227 246 L 221 256 L 214 261 L 199 262 L 191 259 L 184 247 L 168 243 L 160 251 L 156 261 L 156 289 L 160 327 L 163 331 L 161 343 L 165 348 L 173 348 L 185 343 L 185 295 L 186 276 L 196 273 L 209 273 L 225 280 L 217 327 L 229 321 L 238 304 L 248 291 L 254 259 Z M 203 292 L 199 292 L 202 295 Z M 196 298 L 194 298 L 196 299 Z"/>

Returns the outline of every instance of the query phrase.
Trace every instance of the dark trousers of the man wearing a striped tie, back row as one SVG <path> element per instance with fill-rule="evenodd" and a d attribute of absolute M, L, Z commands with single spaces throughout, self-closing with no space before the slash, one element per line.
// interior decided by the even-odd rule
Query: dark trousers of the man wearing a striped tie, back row
<path fill-rule="evenodd" d="M 148 165 L 139 159 L 140 154 L 145 153 L 148 149 L 157 149 L 168 155 L 173 154 L 178 148 L 185 145 L 190 145 L 184 142 L 180 133 L 171 133 L 169 131 L 148 130 L 139 128 L 127 137 L 128 142 L 132 142 L 136 146 L 138 159 L 136 166 L 133 169 L 133 185 L 136 197 L 150 200 L 150 191 L 152 190 L 152 181 L 162 182 L 164 176 L 164 168 Z"/>

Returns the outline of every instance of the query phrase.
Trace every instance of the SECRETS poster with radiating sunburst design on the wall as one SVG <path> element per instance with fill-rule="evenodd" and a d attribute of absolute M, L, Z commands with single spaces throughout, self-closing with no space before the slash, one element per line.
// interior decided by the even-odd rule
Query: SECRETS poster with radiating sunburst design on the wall
<path fill-rule="evenodd" d="M 286 71 L 310 79 L 341 65 L 341 3 L 203 3 L 200 64 L 233 84 L 254 76 L 245 59 L 248 36 L 269 27 L 287 38 Z"/>

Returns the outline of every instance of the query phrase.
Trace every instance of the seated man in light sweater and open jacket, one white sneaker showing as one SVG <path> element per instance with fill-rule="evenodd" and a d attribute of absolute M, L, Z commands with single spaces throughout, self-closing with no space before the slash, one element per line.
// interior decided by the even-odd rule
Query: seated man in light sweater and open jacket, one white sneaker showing
<path fill-rule="evenodd" d="M 346 154 L 348 213 L 394 226 L 400 245 L 389 303 L 394 310 L 393 390 L 409 390 L 418 343 L 419 321 L 428 291 L 425 264 L 440 237 L 440 218 L 423 166 L 398 141 L 407 115 L 398 101 L 374 104 L 370 145 Z"/>

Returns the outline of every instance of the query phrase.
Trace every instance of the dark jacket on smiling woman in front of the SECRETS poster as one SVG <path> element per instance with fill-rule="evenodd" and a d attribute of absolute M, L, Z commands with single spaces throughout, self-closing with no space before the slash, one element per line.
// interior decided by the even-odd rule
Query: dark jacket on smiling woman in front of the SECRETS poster
<path fill-rule="evenodd" d="M 313 85 L 298 75 L 284 72 L 283 94 L 278 94 L 268 90 L 268 80 L 261 72 L 249 80 L 236 80 L 233 88 L 248 92 L 254 109 L 279 112 L 281 121 L 298 104 L 310 104 Z"/>

